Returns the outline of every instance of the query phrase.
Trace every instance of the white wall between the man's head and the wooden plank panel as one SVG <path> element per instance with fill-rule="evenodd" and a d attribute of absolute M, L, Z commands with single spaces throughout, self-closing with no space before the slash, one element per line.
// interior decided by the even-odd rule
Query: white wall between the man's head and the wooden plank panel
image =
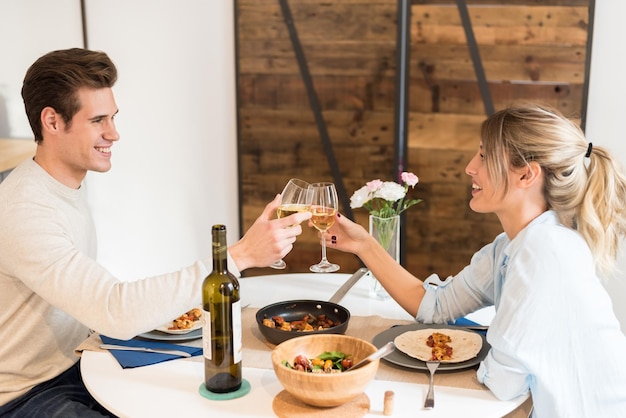
<path fill-rule="evenodd" d="M 88 177 L 100 261 L 122 279 L 211 257 L 239 237 L 232 1 L 87 2 L 89 48 L 118 66 L 121 139 Z"/>

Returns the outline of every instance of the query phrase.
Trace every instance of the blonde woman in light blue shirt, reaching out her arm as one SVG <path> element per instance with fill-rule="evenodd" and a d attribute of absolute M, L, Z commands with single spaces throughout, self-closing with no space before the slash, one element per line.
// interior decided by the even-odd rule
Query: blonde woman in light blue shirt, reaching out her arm
<path fill-rule="evenodd" d="M 502 110 L 481 136 L 465 169 L 470 207 L 495 213 L 504 232 L 460 273 L 422 282 L 340 215 L 328 244 L 359 256 L 417 321 L 494 305 L 477 375 L 498 398 L 530 390 L 534 417 L 626 416 L 626 336 L 596 273 L 611 271 L 626 229 L 626 178 L 545 107 Z"/>

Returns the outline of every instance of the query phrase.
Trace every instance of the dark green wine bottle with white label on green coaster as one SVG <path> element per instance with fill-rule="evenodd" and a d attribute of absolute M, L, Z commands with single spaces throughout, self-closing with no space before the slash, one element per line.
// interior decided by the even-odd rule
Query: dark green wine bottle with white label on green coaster
<path fill-rule="evenodd" d="M 202 346 L 206 388 L 227 393 L 241 387 L 239 281 L 228 271 L 226 226 L 213 225 L 213 271 L 202 283 Z"/>

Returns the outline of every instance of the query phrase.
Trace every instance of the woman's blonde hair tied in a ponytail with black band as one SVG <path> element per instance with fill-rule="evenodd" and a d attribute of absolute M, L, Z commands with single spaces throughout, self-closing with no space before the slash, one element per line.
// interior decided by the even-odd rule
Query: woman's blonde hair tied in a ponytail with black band
<path fill-rule="evenodd" d="M 608 150 L 592 145 L 560 112 L 518 105 L 482 125 L 485 165 L 496 188 L 508 186 L 511 167 L 538 163 L 544 196 L 561 222 L 583 236 L 601 272 L 610 272 L 626 231 L 626 176 Z"/>

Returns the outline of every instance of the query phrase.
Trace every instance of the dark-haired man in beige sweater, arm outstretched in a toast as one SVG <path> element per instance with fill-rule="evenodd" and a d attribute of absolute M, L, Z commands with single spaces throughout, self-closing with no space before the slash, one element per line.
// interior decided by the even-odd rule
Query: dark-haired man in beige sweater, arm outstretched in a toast
<path fill-rule="evenodd" d="M 0 184 L 0 416 L 107 414 L 82 385 L 73 354 L 89 329 L 128 339 L 200 303 L 210 256 L 132 282 L 96 261 L 82 183 L 87 171 L 111 168 L 116 79 L 105 53 L 78 48 L 48 53 L 26 73 L 22 97 L 37 150 Z M 280 259 L 302 232 L 310 214 L 270 220 L 278 203 L 229 248 L 236 274 Z"/>

